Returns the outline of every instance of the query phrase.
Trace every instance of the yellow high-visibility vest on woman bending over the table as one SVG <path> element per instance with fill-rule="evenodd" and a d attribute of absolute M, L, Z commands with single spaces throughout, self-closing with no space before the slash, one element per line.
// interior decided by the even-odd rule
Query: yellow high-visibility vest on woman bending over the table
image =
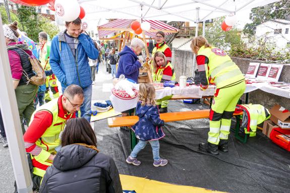
<path fill-rule="evenodd" d="M 216 47 L 202 46 L 197 56 L 204 55 L 208 58 L 205 67 L 206 77 L 209 83 L 214 83 L 217 88 L 223 88 L 238 84 L 245 80 L 239 67 L 222 50 Z"/>

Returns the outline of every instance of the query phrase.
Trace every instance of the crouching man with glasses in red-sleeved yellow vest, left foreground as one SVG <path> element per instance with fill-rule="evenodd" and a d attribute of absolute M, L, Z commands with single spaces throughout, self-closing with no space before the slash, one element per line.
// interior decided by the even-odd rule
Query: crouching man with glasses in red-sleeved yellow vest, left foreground
<path fill-rule="evenodd" d="M 23 138 L 26 152 L 32 155 L 34 175 L 43 177 L 46 168 L 52 164 L 60 148 L 60 133 L 66 121 L 76 117 L 83 101 L 83 89 L 70 85 L 62 96 L 40 106 L 32 114 Z"/>

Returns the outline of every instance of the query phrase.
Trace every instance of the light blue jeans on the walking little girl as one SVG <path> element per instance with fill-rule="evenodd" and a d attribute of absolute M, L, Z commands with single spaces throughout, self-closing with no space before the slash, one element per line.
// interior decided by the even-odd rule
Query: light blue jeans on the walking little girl
<path fill-rule="evenodd" d="M 159 160 L 160 157 L 159 157 L 159 141 L 158 140 L 154 140 L 154 141 L 141 141 L 141 140 L 139 140 L 138 144 L 135 146 L 135 148 L 131 152 L 130 156 L 132 158 L 136 158 L 137 154 L 145 148 L 145 146 L 147 145 L 148 142 L 150 143 L 150 145 L 152 147 L 153 159 Z"/>

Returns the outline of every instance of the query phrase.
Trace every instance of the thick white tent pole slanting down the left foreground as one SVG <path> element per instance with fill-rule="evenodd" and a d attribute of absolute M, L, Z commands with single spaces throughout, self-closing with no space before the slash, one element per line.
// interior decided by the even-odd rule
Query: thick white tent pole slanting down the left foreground
<path fill-rule="evenodd" d="M 11 69 L 0 16 L 0 105 L 14 176 L 19 193 L 32 193 L 33 183 L 24 148 L 23 135 L 12 84 Z"/>

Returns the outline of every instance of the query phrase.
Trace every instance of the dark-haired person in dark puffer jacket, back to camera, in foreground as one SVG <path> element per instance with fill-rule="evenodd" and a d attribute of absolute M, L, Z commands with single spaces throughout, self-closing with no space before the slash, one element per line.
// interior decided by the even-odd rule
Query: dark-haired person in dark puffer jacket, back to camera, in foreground
<path fill-rule="evenodd" d="M 99 153 L 96 136 L 85 118 L 68 120 L 61 138 L 62 149 L 47 168 L 40 193 L 123 192 L 113 159 Z"/>

